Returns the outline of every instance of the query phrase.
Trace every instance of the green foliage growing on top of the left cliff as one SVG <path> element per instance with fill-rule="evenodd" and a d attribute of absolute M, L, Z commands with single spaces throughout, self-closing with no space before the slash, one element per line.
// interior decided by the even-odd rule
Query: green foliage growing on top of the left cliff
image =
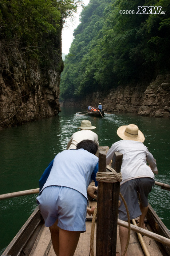
<path fill-rule="evenodd" d="M 0 65 L 4 52 L 7 57 L 12 55 L 12 47 L 41 68 L 58 65 L 63 24 L 79 3 L 80 0 L 1 0 Z M 0 69 L 2 72 L 3 67 Z"/>

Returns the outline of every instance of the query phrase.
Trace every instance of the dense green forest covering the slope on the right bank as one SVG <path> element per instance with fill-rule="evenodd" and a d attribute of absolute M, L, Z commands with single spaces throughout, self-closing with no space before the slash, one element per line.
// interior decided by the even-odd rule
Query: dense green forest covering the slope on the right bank
<path fill-rule="evenodd" d="M 138 15 L 142 6 L 159 8 Z M 80 21 L 64 61 L 62 99 L 150 82 L 170 71 L 169 0 L 90 0 Z"/>

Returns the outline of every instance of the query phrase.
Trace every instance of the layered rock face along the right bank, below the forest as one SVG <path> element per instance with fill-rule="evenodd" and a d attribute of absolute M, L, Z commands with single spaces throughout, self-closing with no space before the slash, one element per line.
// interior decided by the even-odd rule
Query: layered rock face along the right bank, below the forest
<path fill-rule="evenodd" d="M 63 106 L 98 106 L 110 112 L 132 112 L 143 116 L 170 117 L 170 75 L 158 76 L 147 84 L 118 86 L 108 94 L 93 93 L 85 99 L 69 99 Z"/>

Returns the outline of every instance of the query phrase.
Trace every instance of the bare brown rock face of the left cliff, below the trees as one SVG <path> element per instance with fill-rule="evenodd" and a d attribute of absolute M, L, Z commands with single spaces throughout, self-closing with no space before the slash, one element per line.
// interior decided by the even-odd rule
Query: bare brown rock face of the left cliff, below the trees
<path fill-rule="evenodd" d="M 0 127 L 58 114 L 61 38 L 58 65 L 45 71 L 35 61 L 25 60 L 17 46 L 12 46 L 10 53 L 0 53 Z"/>

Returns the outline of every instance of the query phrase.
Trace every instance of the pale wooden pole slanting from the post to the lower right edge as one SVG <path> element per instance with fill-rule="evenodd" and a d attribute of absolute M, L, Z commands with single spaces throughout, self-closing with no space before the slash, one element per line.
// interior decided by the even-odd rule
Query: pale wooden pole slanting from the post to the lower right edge
<path fill-rule="evenodd" d="M 120 219 L 118 219 L 118 225 L 120 226 L 123 226 L 123 227 L 127 227 L 128 228 L 128 223 L 126 221 L 121 221 Z M 147 237 L 150 237 L 152 238 L 153 240 L 156 240 L 158 242 L 161 242 L 162 244 L 165 244 L 165 245 L 168 245 L 170 246 L 170 239 L 169 238 L 166 238 L 166 237 L 163 237 L 163 236 L 160 236 L 158 234 L 155 234 L 149 230 L 146 230 L 146 229 L 142 229 L 141 227 L 136 227 L 135 225 L 133 224 L 130 224 L 130 229 L 137 232 L 137 233 L 140 233 L 142 235 L 145 235 Z"/>

